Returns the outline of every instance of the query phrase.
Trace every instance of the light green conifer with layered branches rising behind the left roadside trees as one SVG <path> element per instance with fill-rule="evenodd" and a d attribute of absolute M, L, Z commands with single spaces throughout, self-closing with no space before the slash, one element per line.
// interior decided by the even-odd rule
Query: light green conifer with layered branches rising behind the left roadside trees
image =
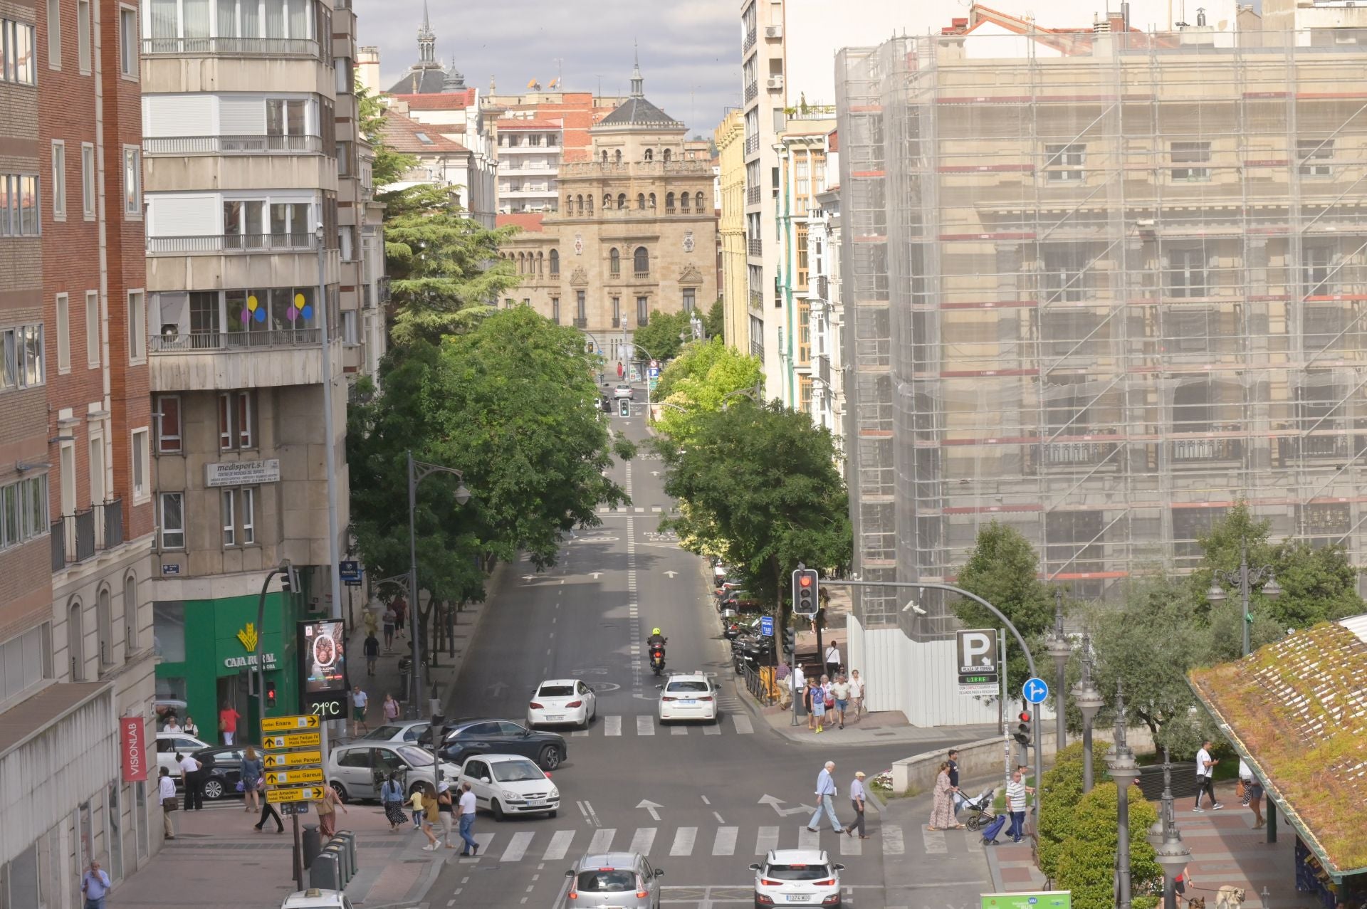
<path fill-rule="evenodd" d="M 437 342 L 469 329 L 521 277 L 498 257 L 517 228 L 488 230 L 466 217 L 451 191 L 413 186 L 379 197 L 387 206 L 384 252 L 394 295 L 392 338 Z"/>

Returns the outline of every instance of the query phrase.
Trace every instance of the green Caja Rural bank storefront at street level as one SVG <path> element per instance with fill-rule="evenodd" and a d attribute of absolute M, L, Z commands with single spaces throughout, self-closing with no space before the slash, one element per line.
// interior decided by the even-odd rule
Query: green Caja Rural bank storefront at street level
<path fill-rule="evenodd" d="M 275 689 L 275 705 L 267 716 L 297 714 L 299 673 L 297 622 L 308 615 L 298 606 L 306 597 L 268 593 L 264 627 L 257 629 L 258 597 L 176 600 L 153 604 L 157 662 L 157 698 L 186 701 L 186 712 L 200 727 L 200 738 L 221 744 L 219 709 L 224 701 L 245 718 L 238 724 L 239 742 L 260 741 L 257 698 L 252 694 L 254 634 L 261 636 L 265 689 Z M 182 718 L 183 719 L 183 718 Z"/>

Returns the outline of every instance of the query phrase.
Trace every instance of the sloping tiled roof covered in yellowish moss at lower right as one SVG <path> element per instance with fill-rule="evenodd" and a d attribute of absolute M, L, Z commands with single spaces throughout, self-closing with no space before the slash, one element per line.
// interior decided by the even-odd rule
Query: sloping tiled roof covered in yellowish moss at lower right
<path fill-rule="evenodd" d="M 1367 621 L 1323 622 L 1191 686 L 1334 876 L 1367 872 Z"/>

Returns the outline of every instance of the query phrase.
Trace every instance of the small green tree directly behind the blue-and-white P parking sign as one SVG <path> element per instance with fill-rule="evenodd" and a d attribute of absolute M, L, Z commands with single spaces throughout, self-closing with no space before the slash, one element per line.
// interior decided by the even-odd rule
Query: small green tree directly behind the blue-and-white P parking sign
<path fill-rule="evenodd" d="M 1031 652 L 1043 657 L 1038 647 L 1046 629 L 1054 625 L 1054 597 L 1039 580 L 1039 556 L 1016 528 L 992 521 L 977 532 L 977 541 L 968 562 L 958 571 L 958 586 L 983 597 L 1012 621 Z M 999 627 L 1001 621 L 972 600 L 954 603 L 954 615 L 965 627 Z M 1006 647 L 1006 690 L 1018 692 L 1029 677 L 1029 664 L 1014 640 Z M 1044 671 L 1043 664 L 1038 666 Z"/>

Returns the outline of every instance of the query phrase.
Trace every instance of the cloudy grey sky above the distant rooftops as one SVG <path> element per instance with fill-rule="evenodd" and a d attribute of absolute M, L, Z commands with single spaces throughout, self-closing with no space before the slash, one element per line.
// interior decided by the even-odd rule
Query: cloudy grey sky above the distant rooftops
<path fill-rule="evenodd" d="M 422 0 L 353 0 L 357 42 L 380 48 L 381 85 L 417 60 Z M 741 103 L 741 14 L 737 0 L 429 0 L 436 52 L 455 57 L 465 83 L 488 92 L 543 87 L 563 74 L 571 92 L 626 94 L 633 42 L 640 48 L 645 96 L 711 138 L 726 105 Z"/>

